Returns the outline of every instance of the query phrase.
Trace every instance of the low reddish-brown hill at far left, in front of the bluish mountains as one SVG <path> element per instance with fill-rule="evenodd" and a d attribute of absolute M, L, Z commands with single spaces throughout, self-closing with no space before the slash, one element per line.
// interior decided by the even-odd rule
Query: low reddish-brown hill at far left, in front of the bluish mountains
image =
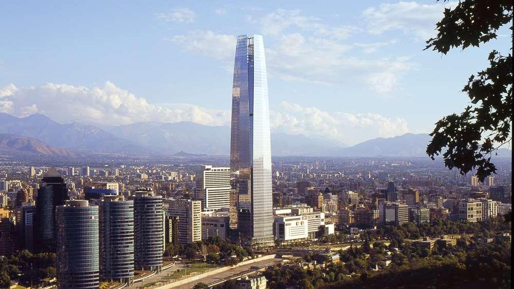
<path fill-rule="evenodd" d="M 0 133 L 0 150 L 32 153 L 45 156 L 74 157 L 75 151 L 50 146 L 40 140 L 11 133 Z"/>

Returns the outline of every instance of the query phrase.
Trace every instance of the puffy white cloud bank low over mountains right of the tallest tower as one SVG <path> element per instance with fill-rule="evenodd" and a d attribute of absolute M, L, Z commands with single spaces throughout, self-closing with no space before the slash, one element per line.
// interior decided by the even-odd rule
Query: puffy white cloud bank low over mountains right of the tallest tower
<path fill-rule="evenodd" d="M 375 113 L 327 112 L 290 102 L 282 102 L 280 111 L 272 110 L 270 118 L 272 131 L 336 139 L 348 145 L 409 132 L 405 119 Z"/>

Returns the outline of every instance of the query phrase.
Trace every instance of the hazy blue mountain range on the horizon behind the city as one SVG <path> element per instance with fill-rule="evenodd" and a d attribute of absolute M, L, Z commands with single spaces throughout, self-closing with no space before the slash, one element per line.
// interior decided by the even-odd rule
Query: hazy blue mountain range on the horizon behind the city
<path fill-rule="evenodd" d="M 230 154 L 230 127 L 193 122 L 140 122 L 102 129 L 80 123 L 60 124 L 43 114 L 17 118 L 0 113 L 0 134 L 6 134 L 4 139 L 0 138 L 4 140 L 0 149 L 40 154 L 73 156 L 91 152 L 182 157 Z M 429 142 L 426 133 L 406 133 L 348 147 L 328 137 L 314 139 L 302 134 L 271 133 L 271 152 L 273 156 L 426 157 Z M 507 151 L 501 155 L 507 155 Z"/>

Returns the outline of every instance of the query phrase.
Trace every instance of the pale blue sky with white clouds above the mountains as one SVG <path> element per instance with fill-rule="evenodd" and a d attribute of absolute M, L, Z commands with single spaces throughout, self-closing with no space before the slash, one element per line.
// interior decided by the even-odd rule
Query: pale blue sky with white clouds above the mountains
<path fill-rule="evenodd" d="M 244 4 L 243 4 L 244 3 Z M 372 1 L 3 1 L 0 112 L 59 122 L 229 125 L 238 34 L 262 34 L 272 130 L 355 144 L 429 132 L 510 48 L 423 51 L 444 5 Z"/>

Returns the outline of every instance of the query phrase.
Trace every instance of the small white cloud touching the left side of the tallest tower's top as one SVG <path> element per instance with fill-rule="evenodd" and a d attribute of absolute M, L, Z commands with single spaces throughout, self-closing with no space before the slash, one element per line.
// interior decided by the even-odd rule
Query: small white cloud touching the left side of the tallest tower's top
<path fill-rule="evenodd" d="M 189 31 L 188 34 L 174 35 L 167 39 L 188 52 L 224 61 L 234 58 L 236 44 L 234 35 L 216 34 L 210 30 L 193 30 Z"/>

